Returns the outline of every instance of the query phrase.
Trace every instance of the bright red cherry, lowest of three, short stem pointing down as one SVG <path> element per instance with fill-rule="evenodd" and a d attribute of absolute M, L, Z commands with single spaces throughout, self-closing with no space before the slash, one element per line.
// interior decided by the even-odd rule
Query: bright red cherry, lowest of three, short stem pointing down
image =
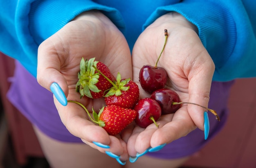
<path fill-rule="evenodd" d="M 161 107 L 154 99 L 144 98 L 140 99 L 134 107 L 137 111 L 135 123 L 141 128 L 146 128 L 148 125 L 155 123 L 161 116 Z"/>

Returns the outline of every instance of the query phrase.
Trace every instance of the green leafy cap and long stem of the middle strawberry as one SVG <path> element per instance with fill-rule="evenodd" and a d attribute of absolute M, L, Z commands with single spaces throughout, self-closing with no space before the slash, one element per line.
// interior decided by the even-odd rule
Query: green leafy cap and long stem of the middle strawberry
<path fill-rule="evenodd" d="M 127 79 L 121 79 L 121 74 L 118 72 L 117 73 L 117 81 L 111 81 L 107 76 L 105 76 L 102 72 L 97 69 L 95 65 L 92 65 L 92 67 L 99 73 L 101 74 L 104 78 L 106 78 L 113 86 L 106 90 L 107 94 L 104 95 L 104 97 L 108 96 L 121 96 L 122 92 L 121 91 L 128 91 L 130 86 L 125 86 L 127 83 L 130 82 L 130 78 Z"/>

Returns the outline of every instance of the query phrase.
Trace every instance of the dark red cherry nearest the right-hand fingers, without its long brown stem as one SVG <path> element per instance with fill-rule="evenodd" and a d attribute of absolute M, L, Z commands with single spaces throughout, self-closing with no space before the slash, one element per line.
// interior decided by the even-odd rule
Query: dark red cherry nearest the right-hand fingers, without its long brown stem
<path fill-rule="evenodd" d="M 173 102 L 180 102 L 180 96 L 171 89 L 156 90 L 151 94 L 150 98 L 157 101 L 161 106 L 162 115 L 175 113 L 181 106 L 180 104 L 173 105 Z"/>

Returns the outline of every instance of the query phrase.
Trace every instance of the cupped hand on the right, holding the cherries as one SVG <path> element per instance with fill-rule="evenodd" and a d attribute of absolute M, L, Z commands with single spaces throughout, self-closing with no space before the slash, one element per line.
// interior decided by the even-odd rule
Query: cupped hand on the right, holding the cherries
<path fill-rule="evenodd" d="M 167 71 L 166 87 L 175 90 L 183 102 L 207 107 L 215 66 L 197 28 L 178 13 L 161 16 L 141 33 L 132 50 L 133 80 L 140 87 L 141 67 L 155 65 L 164 45 L 164 29 L 168 30 L 168 39 L 157 66 Z M 141 98 L 150 96 L 141 87 L 140 94 Z M 159 128 L 154 124 L 147 128 L 136 126 L 130 136 L 123 135 L 129 155 L 134 157 L 149 147 L 171 143 L 197 127 L 204 130 L 204 111 L 199 106 L 183 104 L 175 114 L 161 116 Z"/>

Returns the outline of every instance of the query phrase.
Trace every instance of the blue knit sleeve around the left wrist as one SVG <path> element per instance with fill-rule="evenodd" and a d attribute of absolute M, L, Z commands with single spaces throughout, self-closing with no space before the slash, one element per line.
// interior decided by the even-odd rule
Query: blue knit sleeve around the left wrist
<path fill-rule="evenodd" d="M 1 2 L 2 3 L 2 2 Z M 119 11 L 91 0 L 22 0 L 3 2 L 0 9 L 0 51 L 18 59 L 36 76 L 37 49 L 43 40 L 84 11 L 100 10 L 122 31 Z M 3 45 L 2 45 L 3 44 Z"/>

